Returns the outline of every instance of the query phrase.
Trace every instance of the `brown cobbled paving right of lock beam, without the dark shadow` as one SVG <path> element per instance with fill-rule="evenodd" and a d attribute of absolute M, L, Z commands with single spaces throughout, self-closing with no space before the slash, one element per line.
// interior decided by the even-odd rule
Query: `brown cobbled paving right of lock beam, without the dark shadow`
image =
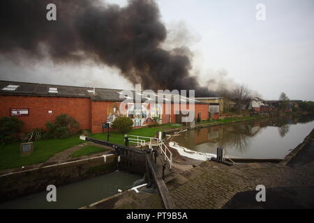
<path fill-rule="evenodd" d="M 234 195 L 255 190 L 257 185 L 265 185 L 266 192 L 270 187 L 314 187 L 314 162 L 296 169 L 271 163 L 228 167 L 203 162 L 167 184 L 177 208 L 197 209 L 223 208 Z M 274 197 L 267 197 L 267 202 L 271 199 Z"/>

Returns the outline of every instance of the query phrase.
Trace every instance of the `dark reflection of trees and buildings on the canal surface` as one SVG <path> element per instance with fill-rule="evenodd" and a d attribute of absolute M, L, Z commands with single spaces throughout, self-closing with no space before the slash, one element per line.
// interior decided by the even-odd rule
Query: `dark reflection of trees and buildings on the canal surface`
<path fill-rule="evenodd" d="M 188 148 L 195 148 L 196 145 L 211 143 L 210 148 L 220 146 L 223 148 L 235 148 L 239 153 L 245 153 L 251 146 L 251 139 L 260 134 L 262 128 L 267 126 L 278 127 L 278 133 L 284 137 L 289 132 L 290 125 L 313 121 L 312 117 L 304 116 L 276 116 L 258 121 L 236 123 L 232 125 L 220 125 L 206 129 L 187 131 L 181 134 L 176 141 Z M 214 146 L 215 145 L 215 146 Z"/>

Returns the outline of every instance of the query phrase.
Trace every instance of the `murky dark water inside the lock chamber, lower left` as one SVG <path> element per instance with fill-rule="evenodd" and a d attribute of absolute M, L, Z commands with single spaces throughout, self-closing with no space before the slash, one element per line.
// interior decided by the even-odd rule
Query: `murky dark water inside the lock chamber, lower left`
<path fill-rule="evenodd" d="M 57 202 L 48 202 L 48 192 L 40 192 L 13 201 L 0 203 L 3 208 L 81 208 L 118 193 L 118 190 L 128 190 L 135 180 L 142 178 L 137 174 L 126 174 L 115 171 L 110 174 L 82 180 L 57 187 Z"/>

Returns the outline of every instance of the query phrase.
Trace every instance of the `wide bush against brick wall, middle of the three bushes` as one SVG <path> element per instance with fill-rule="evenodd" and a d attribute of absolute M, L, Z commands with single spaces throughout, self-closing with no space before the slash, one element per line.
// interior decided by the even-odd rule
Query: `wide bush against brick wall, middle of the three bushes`
<path fill-rule="evenodd" d="M 47 122 L 46 127 L 48 138 L 62 139 L 70 137 L 79 132 L 80 124 L 75 121 L 75 118 L 67 114 L 61 114 L 56 117 L 54 123 Z"/>

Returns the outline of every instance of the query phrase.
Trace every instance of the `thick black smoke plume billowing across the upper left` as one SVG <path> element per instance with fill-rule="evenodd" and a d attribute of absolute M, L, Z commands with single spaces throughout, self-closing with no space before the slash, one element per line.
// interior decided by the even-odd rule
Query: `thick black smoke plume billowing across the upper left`
<path fill-rule="evenodd" d="M 46 6 L 57 6 L 57 21 L 47 21 Z M 130 0 L 128 5 L 98 0 L 1 0 L 0 53 L 13 58 L 49 56 L 54 63 L 93 60 L 117 67 L 144 89 L 195 89 L 213 95 L 190 75 L 190 54 L 165 50 L 167 38 L 157 4 Z"/>

